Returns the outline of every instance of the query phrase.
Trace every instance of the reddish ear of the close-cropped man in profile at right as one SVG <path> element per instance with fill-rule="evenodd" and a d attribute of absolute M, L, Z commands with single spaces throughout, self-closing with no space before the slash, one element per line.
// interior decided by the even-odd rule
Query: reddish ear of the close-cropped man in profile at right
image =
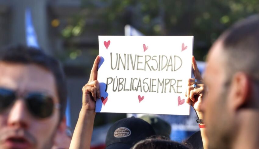
<path fill-rule="evenodd" d="M 229 90 L 229 106 L 237 110 L 248 103 L 250 99 L 250 80 L 245 73 L 236 73 L 232 78 Z"/>

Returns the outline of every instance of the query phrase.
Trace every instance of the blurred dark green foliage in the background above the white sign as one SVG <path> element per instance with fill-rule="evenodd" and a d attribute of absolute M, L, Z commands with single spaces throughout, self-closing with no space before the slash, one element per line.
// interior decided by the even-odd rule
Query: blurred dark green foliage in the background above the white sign
<path fill-rule="evenodd" d="M 123 35 L 130 24 L 147 36 L 194 36 L 194 56 L 205 60 L 218 36 L 239 19 L 259 12 L 258 0 L 82 0 L 85 20 L 92 26 L 67 26 L 62 36 L 80 36 L 84 28 Z M 80 22 L 80 21 L 78 21 Z M 80 23 L 79 23 L 80 24 Z"/>

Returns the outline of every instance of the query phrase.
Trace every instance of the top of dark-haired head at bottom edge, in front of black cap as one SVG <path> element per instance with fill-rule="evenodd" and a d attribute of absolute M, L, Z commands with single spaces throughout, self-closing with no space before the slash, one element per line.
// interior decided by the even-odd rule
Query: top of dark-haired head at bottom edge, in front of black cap
<path fill-rule="evenodd" d="M 145 139 L 135 144 L 132 149 L 188 149 L 188 147 L 178 142 L 161 140 L 161 139 Z"/>

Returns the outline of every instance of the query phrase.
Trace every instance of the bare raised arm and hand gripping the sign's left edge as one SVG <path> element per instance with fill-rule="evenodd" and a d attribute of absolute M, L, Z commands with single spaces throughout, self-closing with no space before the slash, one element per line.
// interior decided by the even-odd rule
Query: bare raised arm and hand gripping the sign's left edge
<path fill-rule="evenodd" d="M 82 108 L 76 123 L 69 149 L 90 149 L 94 127 L 95 102 L 100 98 L 99 83 L 97 81 L 98 63 L 100 57 L 94 60 L 88 83 L 83 86 Z"/>

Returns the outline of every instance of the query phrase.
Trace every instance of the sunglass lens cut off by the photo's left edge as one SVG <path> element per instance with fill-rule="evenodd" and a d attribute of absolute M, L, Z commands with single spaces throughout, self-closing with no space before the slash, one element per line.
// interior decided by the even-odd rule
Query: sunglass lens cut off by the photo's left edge
<path fill-rule="evenodd" d="M 0 112 L 9 107 L 15 100 L 15 92 L 0 88 Z"/>

